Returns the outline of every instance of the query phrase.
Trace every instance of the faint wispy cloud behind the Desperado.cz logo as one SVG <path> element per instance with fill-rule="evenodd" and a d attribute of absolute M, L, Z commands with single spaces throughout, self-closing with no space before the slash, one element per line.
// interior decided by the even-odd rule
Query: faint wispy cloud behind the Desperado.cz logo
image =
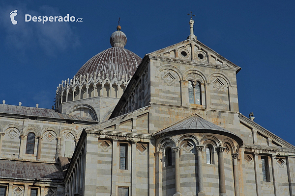
<path fill-rule="evenodd" d="M 15 9 L 18 10 L 15 16 L 18 23 L 12 25 L 9 13 Z M 38 11 L 29 10 L 24 4 L 0 6 L 0 33 L 9 49 L 18 49 L 23 54 L 28 50 L 31 52 L 42 49 L 47 55 L 52 56 L 80 44 L 78 36 L 73 31 L 73 22 L 25 22 L 25 14 L 63 16 L 57 8 L 50 6 L 39 7 Z"/>

